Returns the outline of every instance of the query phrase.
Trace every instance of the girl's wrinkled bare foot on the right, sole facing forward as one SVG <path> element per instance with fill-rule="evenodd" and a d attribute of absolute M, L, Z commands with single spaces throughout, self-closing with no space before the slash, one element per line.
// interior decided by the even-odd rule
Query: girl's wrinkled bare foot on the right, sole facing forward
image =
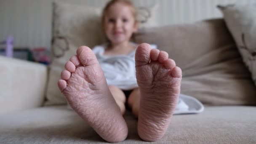
<path fill-rule="evenodd" d="M 145 141 L 157 141 L 165 134 L 178 101 L 181 69 L 168 53 L 147 43 L 139 45 L 135 60 L 141 93 L 138 133 Z"/>

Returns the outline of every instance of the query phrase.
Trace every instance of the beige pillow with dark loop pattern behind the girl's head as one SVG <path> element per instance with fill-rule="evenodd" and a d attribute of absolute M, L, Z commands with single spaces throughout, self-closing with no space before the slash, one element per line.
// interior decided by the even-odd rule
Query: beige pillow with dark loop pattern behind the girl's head
<path fill-rule="evenodd" d="M 152 17 L 155 16 L 152 13 L 156 13 L 157 5 L 138 10 L 138 19 L 144 22 L 143 27 L 157 24 L 157 19 Z M 64 64 L 76 54 L 77 48 L 81 45 L 93 48 L 105 42 L 101 32 L 101 11 L 102 8 L 85 5 L 53 3 L 53 61 L 50 65 L 45 104 L 67 103 L 57 83 Z"/>

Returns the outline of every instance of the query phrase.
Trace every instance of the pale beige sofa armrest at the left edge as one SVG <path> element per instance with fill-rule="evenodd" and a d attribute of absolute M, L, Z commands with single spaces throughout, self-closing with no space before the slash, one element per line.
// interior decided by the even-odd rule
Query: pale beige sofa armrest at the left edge
<path fill-rule="evenodd" d="M 0 56 L 0 114 L 40 107 L 46 83 L 45 65 Z"/>

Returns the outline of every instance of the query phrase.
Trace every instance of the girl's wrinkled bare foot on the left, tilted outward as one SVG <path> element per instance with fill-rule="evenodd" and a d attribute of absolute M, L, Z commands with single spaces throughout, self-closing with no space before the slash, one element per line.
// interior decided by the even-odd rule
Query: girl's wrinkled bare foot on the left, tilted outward
<path fill-rule="evenodd" d="M 58 85 L 70 106 L 106 141 L 123 141 L 127 125 L 91 49 L 78 48 L 65 68 Z"/>

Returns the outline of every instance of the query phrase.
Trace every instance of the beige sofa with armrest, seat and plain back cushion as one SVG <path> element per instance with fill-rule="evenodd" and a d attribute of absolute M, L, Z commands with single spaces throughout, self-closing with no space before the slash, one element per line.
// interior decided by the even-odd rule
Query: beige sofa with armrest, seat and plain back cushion
<path fill-rule="evenodd" d="M 181 93 L 205 104 L 200 114 L 173 116 L 152 144 L 256 144 L 256 87 L 223 19 L 141 29 L 135 42 L 168 51 L 183 70 Z M 0 144 L 105 143 L 65 103 L 43 106 L 50 73 L 0 56 Z M 129 109 L 124 117 L 129 133 L 120 143 L 145 143 Z"/>

